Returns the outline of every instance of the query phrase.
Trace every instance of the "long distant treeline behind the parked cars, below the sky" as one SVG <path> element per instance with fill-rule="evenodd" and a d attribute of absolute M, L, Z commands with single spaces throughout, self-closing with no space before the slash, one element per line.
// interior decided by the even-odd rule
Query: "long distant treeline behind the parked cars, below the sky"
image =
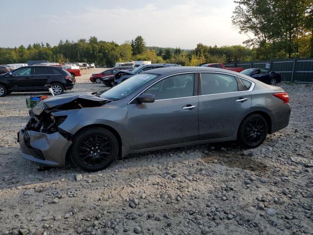
<path fill-rule="evenodd" d="M 60 41 L 54 47 L 48 43 L 35 43 L 27 47 L 0 48 L 0 64 L 25 63 L 27 60 L 49 62 L 93 62 L 97 66 L 111 67 L 115 62 L 150 60 L 152 63 L 175 63 L 198 66 L 201 63 L 229 63 L 250 60 L 253 50 L 243 46 L 211 47 L 198 44 L 193 50 L 178 48 L 146 47 L 141 36 L 118 45 L 98 41 L 96 37 L 77 42 Z"/>

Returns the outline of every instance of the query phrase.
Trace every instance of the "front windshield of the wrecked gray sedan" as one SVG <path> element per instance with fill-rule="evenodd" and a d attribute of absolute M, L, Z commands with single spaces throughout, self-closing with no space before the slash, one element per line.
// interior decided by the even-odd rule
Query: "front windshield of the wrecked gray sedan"
<path fill-rule="evenodd" d="M 110 90 L 100 94 L 100 97 L 110 100 L 119 100 L 128 94 L 131 94 L 142 85 L 154 79 L 156 76 L 157 74 L 153 73 L 140 73 L 134 75 L 117 86 L 112 87 Z"/>

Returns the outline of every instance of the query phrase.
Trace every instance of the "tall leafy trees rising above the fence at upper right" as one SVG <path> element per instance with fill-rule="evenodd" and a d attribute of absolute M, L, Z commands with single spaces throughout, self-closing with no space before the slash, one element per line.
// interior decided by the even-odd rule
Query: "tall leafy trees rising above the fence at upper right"
<path fill-rule="evenodd" d="M 232 23 L 255 58 L 313 57 L 313 0 L 235 0 Z"/>

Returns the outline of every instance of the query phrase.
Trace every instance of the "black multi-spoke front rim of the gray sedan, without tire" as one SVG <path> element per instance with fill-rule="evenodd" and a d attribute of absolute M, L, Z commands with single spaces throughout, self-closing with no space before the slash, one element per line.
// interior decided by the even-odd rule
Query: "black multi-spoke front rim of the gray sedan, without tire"
<path fill-rule="evenodd" d="M 110 158 L 112 145 L 110 141 L 101 135 L 92 135 L 81 142 L 78 147 L 80 161 L 91 167 L 100 166 Z"/>

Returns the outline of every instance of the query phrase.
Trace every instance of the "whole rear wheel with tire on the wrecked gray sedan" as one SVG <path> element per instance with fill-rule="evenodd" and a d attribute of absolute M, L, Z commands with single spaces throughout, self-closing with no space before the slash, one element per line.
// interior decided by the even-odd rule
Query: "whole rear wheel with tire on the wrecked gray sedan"
<path fill-rule="evenodd" d="M 244 148 L 256 148 L 263 143 L 267 134 L 266 119 L 260 114 L 252 114 L 241 122 L 237 141 Z"/>

